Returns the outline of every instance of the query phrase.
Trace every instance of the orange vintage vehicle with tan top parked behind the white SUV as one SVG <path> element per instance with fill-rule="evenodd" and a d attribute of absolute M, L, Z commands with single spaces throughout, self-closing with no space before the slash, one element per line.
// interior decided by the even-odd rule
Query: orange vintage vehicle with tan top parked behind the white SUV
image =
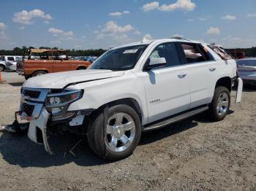
<path fill-rule="evenodd" d="M 17 72 L 26 79 L 59 71 L 87 69 L 91 63 L 72 61 L 66 50 L 31 49 L 28 59 L 17 63 Z"/>

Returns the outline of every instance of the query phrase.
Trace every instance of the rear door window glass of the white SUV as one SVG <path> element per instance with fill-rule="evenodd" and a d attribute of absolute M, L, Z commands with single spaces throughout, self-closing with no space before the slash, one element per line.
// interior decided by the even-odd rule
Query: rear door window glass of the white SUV
<path fill-rule="evenodd" d="M 204 49 L 200 44 L 181 43 L 181 47 L 184 51 L 187 63 L 212 61 L 211 57 L 208 55 L 209 53 L 207 50 Z"/>

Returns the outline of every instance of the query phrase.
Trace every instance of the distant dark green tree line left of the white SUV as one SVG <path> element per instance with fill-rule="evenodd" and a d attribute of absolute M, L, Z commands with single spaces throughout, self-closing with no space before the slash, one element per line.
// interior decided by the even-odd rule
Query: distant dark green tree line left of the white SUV
<path fill-rule="evenodd" d="M 15 47 L 13 50 L 0 50 L 0 55 L 23 55 L 24 52 L 29 52 L 29 50 L 34 47 Z M 39 49 L 53 49 L 61 50 L 59 47 L 39 47 Z M 67 55 L 69 56 L 100 56 L 106 50 L 104 49 L 90 49 L 90 50 L 67 50 Z M 25 54 L 27 55 L 27 54 Z"/>

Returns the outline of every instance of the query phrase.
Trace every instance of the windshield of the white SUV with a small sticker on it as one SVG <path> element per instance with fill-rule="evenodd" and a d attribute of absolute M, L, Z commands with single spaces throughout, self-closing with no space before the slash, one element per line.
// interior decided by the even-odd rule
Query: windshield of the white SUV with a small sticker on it
<path fill-rule="evenodd" d="M 109 69 L 112 71 L 133 69 L 147 46 L 148 44 L 143 44 L 108 50 L 89 69 Z"/>

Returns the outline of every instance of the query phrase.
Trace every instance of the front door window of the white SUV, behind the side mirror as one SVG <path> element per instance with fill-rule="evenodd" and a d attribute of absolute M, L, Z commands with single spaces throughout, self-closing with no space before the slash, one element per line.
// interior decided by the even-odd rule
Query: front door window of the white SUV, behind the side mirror
<path fill-rule="evenodd" d="M 149 58 L 165 58 L 166 66 L 177 66 L 180 64 L 176 45 L 174 43 L 161 44 L 155 48 Z"/>

